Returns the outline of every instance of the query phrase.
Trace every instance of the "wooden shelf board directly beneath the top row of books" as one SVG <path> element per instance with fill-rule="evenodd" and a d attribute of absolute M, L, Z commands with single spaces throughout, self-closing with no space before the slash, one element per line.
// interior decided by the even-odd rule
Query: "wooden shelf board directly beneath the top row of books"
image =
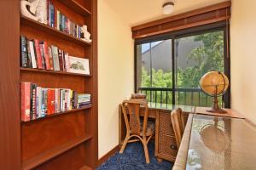
<path fill-rule="evenodd" d="M 52 28 L 45 24 L 42 24 L 36 20 L 27 18 L 26 16 L 22 16 L 22 15 L 20 16 L 20 23 L 21 23 L 21 25 L 23 24 L 25 26 L 30 26 L 30 27 L 35 28 L 40 31 L 48 32 L 50 35 L 52 35 L 54 37 L 58 37 L 58 38 L 61 38 L 61 39 L 67 40 L 67 41 L 75 42 L 82 46 L 91 46 L 90 42 L 84 42 L 83 40 L 81 40 L 77 37 L 72 37 L 65 32 L 58 31 L 55 28 Z"/>

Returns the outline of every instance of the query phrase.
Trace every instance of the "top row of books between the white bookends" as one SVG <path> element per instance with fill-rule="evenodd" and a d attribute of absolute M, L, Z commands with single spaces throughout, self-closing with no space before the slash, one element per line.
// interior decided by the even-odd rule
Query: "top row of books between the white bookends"
<path fill-rule="evenodd" d="M 81 26 L 61 14 L 50 0 L 40 0 L 37 9 L 38 21 L 54 27 L 73 37 L 81 38 Z"/>

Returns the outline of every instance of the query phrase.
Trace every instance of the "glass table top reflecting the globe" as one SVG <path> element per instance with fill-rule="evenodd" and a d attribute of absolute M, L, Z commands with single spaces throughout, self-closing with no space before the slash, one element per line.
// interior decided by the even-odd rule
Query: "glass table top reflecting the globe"
<path fill-rule="evenodd" d="M 194 115 L 186 169 L 256 169 L 256 127 L 243 119 Z"/>

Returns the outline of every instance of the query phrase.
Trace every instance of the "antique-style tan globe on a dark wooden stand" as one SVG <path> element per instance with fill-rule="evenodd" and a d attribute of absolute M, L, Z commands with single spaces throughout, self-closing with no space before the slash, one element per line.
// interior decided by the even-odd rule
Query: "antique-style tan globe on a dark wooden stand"
<path fill-rule="evenodd" d="M 212 109 L 209 112 L 225 113 L 218 106 L 218 96 L 223 95 L 229 88 L 230 81 L 226 75 L 221 71 L 207 72 L 200 80 L 200 86 L 204 93 L 213 96 Z"/>

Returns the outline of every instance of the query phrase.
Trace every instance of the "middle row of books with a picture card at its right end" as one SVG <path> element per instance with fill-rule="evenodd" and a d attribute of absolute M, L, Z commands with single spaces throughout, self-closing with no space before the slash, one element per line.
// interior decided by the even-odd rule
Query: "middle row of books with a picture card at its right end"
<path fill-rule="evenodd" d="M 85 62 L 87 64 L 86 67 L 89 67 L 88 59 L 69 56 L 67 52 L 55 45 L 49 45 L 47 42 L 38 41 L 38 39 L 29 40 L 24 36 L 20 37 L 20 66 L 23 68 L 67 71 L 82 74 L 90 73 L 85 71 L 85 68 L 84 72 L 78 72 L 78 69 L 72 69 L 73 65 L 71 64 L 75 61 L 80 61 L 80 63 Z M 86 69 L 89 70 L 89 68 Z"/>

